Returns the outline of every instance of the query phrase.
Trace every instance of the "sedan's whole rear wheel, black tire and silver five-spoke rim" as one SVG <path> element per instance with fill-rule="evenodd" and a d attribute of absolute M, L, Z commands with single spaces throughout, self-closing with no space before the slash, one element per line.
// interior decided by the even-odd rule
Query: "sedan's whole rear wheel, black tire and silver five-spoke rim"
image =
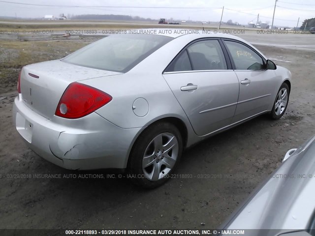
<path fill-rule="evenodd" d="M 182 155 L 183 141 L 176 126 L 158 123 L 139 136 L 129 156 L 129 174 L 141 187 L 163 184 L 176 168 Z"/>

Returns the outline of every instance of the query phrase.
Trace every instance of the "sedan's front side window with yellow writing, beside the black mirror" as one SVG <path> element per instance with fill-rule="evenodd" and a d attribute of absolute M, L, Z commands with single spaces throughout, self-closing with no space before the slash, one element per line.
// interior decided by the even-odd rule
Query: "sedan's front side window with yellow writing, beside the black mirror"
<path fill-rule="evenodd" d="M 225 41 L 235 63 L 236 70 L 262 70 L 262 58 L 249 47 L 237 42 Z"/>

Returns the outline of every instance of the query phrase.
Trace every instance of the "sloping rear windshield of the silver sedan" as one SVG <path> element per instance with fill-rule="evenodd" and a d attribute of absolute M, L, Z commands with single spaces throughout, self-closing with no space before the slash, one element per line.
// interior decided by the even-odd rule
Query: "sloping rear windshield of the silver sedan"
<path fill-rule="evenodd" d="M 125 73 L 172 39 L 154 34 L 115 34 L 62 60 L 75 65 Z"/>

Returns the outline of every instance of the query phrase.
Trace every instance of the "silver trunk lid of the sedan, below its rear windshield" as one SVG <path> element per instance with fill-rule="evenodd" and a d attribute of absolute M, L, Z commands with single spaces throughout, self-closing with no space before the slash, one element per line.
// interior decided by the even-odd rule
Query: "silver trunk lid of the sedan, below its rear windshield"
<path fill-rule="evenodd" d="M 88 68 L 61 60 L 24 66 L 21 72 L 23 102 L 41 116 L 51 119 L 64 90 L 72 82 L 121 74 Z"/>

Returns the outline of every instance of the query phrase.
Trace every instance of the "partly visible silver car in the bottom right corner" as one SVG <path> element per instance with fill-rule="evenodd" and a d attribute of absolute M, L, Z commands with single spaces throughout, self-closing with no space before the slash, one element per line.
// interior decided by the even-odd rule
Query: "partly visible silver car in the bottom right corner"
<path fill-rule="evenodd" d="M 288 150 L 282 165 L 220 228 L 222 236 L 236 229 L 251 236 L 315 236 L 315 136 Z"/>

